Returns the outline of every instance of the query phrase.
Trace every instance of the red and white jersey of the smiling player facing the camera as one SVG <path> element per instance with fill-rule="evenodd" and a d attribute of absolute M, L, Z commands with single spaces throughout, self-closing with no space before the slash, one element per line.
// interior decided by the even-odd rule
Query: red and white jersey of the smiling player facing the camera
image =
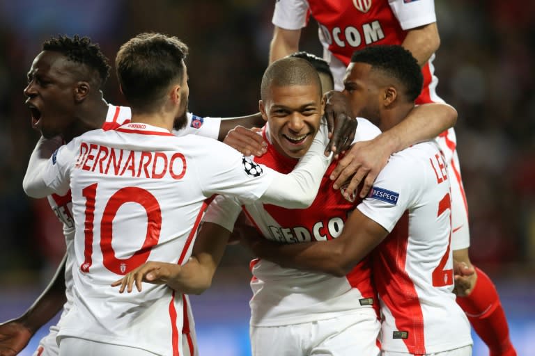
<path fill-rule="evenodd" d="M 355 141 L 371 140 L 378 136 L 380 130 L 371 122 L 362 118 L 358 120 Z M 297 160 L 277 152 L 270 143 L 267 125 L 263 134 L 268 142 L 267 153 L 254 160 L 278 172 L 290 172 Z M 316 200 L 308 209 L 284 209 L 261 202 L 242 208 L 237 200 L 219 196 L 210 204 L 205 220 L 232 231 L 243 209 L 258 232 L 273 241 L 302 243 L 336 238 L 341 234 L 348 214 L 359 201 L 349 202 L 341 190 L 332 190 L 329 175 L 335 167 L 336 162 L 329 165 Z M 251 326 L 306 323 L 377 306 L 369 259 L 357 264 L 346 277 L 283 268 L 263 259 L 251 261 L 251 272 Z"/>

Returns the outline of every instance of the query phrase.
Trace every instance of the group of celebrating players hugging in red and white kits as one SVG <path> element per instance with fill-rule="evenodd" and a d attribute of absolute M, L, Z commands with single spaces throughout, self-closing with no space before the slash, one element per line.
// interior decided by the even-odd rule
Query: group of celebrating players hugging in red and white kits
<path fill-rule="evenodd" d="M 325 60 L 298 51 L 309 17 Z M 251 355 L 465 356 L 470 324 L 490 355 L 516 355 L 468 257 L 433 1 L 280 0 L 273 24 L 259 113 L 242 118 L 188 112 L 174 36 L 118 50 L 129 107 L 102 97 L 98 44 L 43 43 L 24 89 L 42 136 L 23 186 L 47 197 L 67 250 L 47 291 L 0 325 L 0 356 L 60 309 L 34 355 L 199 355 L 187 294 L 210 293 L 235 236 L 257 257 Z"/>

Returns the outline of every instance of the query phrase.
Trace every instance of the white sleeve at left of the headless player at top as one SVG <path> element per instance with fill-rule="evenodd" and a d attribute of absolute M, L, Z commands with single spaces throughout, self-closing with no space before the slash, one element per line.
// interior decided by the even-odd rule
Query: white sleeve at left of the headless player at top
<path fill-rule="evenodd" d="M 275 3 L 272 22 L 286 30 L 298 30 L 307 26 L 309 4 L 304 0 L 279 0 Z"/>

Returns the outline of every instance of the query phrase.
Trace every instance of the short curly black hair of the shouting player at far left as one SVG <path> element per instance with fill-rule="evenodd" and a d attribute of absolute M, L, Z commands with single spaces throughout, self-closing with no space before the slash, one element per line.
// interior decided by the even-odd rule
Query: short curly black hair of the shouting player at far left
<path fill-rule="evenodd" d="M 106 83 L 109 77 L 110 65 L 108 58 L 100 50 L 98 43 L 91 42 L 91 38 L 74 35 L 58 35 L 42 43 L 43 51 L 54 51 L 63 54 L 75 63 L 87 65 L 98 72 L 100 86 Z"/>

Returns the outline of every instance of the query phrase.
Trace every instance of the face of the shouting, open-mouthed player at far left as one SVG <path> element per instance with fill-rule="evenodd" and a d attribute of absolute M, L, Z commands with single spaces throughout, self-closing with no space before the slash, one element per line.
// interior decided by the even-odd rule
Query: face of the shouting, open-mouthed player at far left
<path fill-rule="evenodd" d="M 33 60 L 24 88 L 31 125 L 50 138 L 63 134 L 75 120 L 76 64 L 54 51 L 42 51 Z"/>

